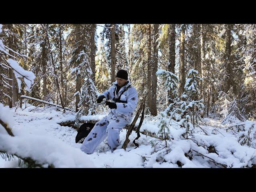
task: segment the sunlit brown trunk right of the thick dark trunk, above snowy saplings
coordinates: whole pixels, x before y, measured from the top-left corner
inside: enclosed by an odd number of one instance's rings
[[[185,81],[185,26],[182,25],[180,32],[180,96],[182,96],[184,92]],[[184,100],[184,98],[182,100]]]

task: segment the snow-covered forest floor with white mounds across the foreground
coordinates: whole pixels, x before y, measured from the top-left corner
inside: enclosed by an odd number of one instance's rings
[[[218,167],[220,164],[228,167],[250,167],[256,164],[256,149],[240,145],[234,134],[226,132],[226,126],[220,124],[221,120],[204,118],[200,127],[208,135],[197,129],[192,140],[179,139],[182,130],[174,124],[170,128],[173,140],[168,143],[168,152],[166,148],[159,149],[157,145],[152,147],[152,143],[158,142],[158,139],[143,134],[136,141],[140,145],[139,148],[134,149],[132,141],[137,136],[135,132],[130,135],[131,142],[125,151],[121,148],[126,137],[126,130],[123,129],[120,132],[121,145],[113,153],[105,139],[93,154],[88,155],[80,150],[81,144],[75,143],[77,131],[58,124],[64,120],[74,119],[74,113],[62,114],[56,107],[43,111],[43,108],[29,111],[32,108],[34,106],[24,110],[17,108],[15,111],[15,108],[4,107],[4,111],[10,113],[10,120],[13,120],[11,126],[14,137],[9,136],[4,128],[0,127],[0,147],[22,157],[30,156],[46,167],[47,163],[55,167],[70,168],[210,168]],[[98,115],[94,119],[101,119],[103,116]],[[140,130],[157,133],[159,121],[160,116],[146,116]],[[214,146],[217,154],[209,152],[203,146]],[[190,160],[185,153],[192,154],[193,158]],[[201,155],[195,155],[199,153]],[[18,159],[5,161],[0,158],[0,167],[18,167]]]

